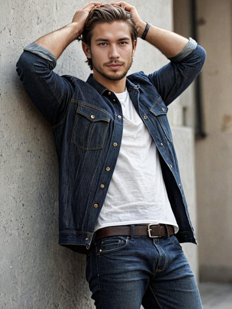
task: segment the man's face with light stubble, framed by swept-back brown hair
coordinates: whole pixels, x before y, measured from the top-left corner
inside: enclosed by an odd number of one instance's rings
[[[124,78],[131,67],[135,47],[136,41],[132,43],[126,22],[97,24],[93,29],[90,48],[93,73],[110,80]]]

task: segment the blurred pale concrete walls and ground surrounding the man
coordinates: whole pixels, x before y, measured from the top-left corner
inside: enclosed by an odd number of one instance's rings
[[[107,1],[103,1],[107,2]],[[109,1],[110,2],[110,1]],[[0,308],[91,309],[85,256],[58,245],[58,164],[52,129],[15,71],[23,48],[70,23],[82,0],[9,0],[0,20]],[[168,117],[199,246],[182,244],[204,309],[232,304],[232,2],[131,0],[144,21],[193,37],[207,52],[195,82]],[[80,43],[55,71],[91,73]],[[168,60],[138,39],[130,73]]]

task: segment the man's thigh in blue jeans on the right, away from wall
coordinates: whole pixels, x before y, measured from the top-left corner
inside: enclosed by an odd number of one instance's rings
[[[150,280],[142,300],[143,307],[202,309],[195,276],[178,239],[173,235],[169,239],[157,240],[155,246],[158,251],[166,253],[167,260],[165,268],[158,269]]]

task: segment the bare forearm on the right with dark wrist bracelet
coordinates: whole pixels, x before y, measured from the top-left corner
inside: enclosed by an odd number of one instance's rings
[[[139,28],[139,37],[142,36],[145,28],[146,23],[143,22]],[[158,48],[167,58],[178,55],[188,43],[187,38],[153,25],[150,26],[145,40]]]

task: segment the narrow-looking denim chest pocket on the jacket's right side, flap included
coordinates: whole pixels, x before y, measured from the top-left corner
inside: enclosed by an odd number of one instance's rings
[[[162,131],[166,135],[169,142],[172,143],[173,142],[172,133],[171,133],[170,125],[168,122],[168,117],[167,117],[168,108],[162,101],[161,97],[157,99],[157,101],[149,109],[149,111],[152,112],[153,115],[156,116],[159,126],[162,128]]]

